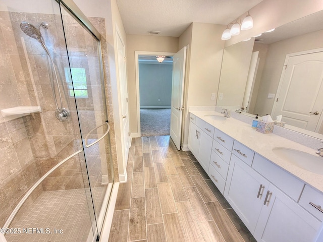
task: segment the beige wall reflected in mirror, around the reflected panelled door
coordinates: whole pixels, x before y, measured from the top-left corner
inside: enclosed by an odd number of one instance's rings
[[[286,54],[323,48],[323,30],[297,36],[268,45],[267,57],[255,105],[256,113],[271,113],[275,99],[266,98],[276,93],[285,63]]]

